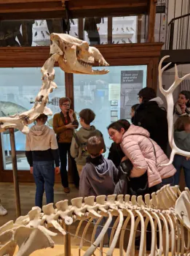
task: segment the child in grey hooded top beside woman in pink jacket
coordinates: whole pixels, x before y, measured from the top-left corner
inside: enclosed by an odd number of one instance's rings
[[[111,160],[103,157],[103,138],[93,136],[87,140],[87,163],[82,168],[79,196],[114,194],[118,170]]]

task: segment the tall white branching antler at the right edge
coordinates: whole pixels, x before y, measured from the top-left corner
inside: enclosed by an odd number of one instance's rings
[[[159,89],[162,92],[163,95],[165,95],[166,101],[167,101],[167,123],[168,123],[168,139],[170,143],[170,147],[172,148],[172,152],[170,154],[170,161],[166,165],[170,165],[173,163],[173,158],[175,154],[180,154],[184,157],[190,157],[190,152],[186,152],[181,150],[175,145],[175,141],[173,139],[173,108],[174,108],[174,102],[173,102],[173,91],[175,88],[186,78],[190,76],[190,73],[187,75],[184,75],[183,78],[178,77],[178,67],[175,64],[175,80],[170,86],[168,90],[163,89],[162,87],[162,73],[165,71],[165,69],[170,66],[171,62],[168,63],[165,67],[162,67],[162,63],[165,59],[167,59],[170,56],[165,56],[161,59],[159,62]]]

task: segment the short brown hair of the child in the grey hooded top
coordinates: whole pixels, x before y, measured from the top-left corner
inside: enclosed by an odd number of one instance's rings
[[[93,136],[87,140],[87,151],[93,157],[98,157],[103,148],[104,142],[102,137]]]

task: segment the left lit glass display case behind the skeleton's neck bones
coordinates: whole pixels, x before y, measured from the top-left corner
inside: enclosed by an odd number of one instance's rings
[[[41,87],[41,72],[39,67],[1,68],[0,116],[12,116],[32,108],[33,101]],[[58,89],[50,94],[48,107],[53,114],[60,112],[59,99],[65,97],[65,73],[55,67],[55,83]],[[33,124],[30,124],[31,127]],[[52,128],[52,116],[47,125]],[[12,170],[9,130],[1,133],[4,170]],[[25,135],[15,129],[15,146],[17,151],[18,170],[29,170],[25,158]]]

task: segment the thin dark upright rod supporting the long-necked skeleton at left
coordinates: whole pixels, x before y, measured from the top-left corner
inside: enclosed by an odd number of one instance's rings
[[[19,194],[19,185],[17,178],[17,156],[15,148],[15,132],[13,128],[9,128],[10,135],[10,145],[11,145],[11,157],[12,157],[12,172],[13,172],[13,181],[15,189],[15,203],[16,203],[16,216],[17,218],[21,215],[20,209],[20,194]]]

